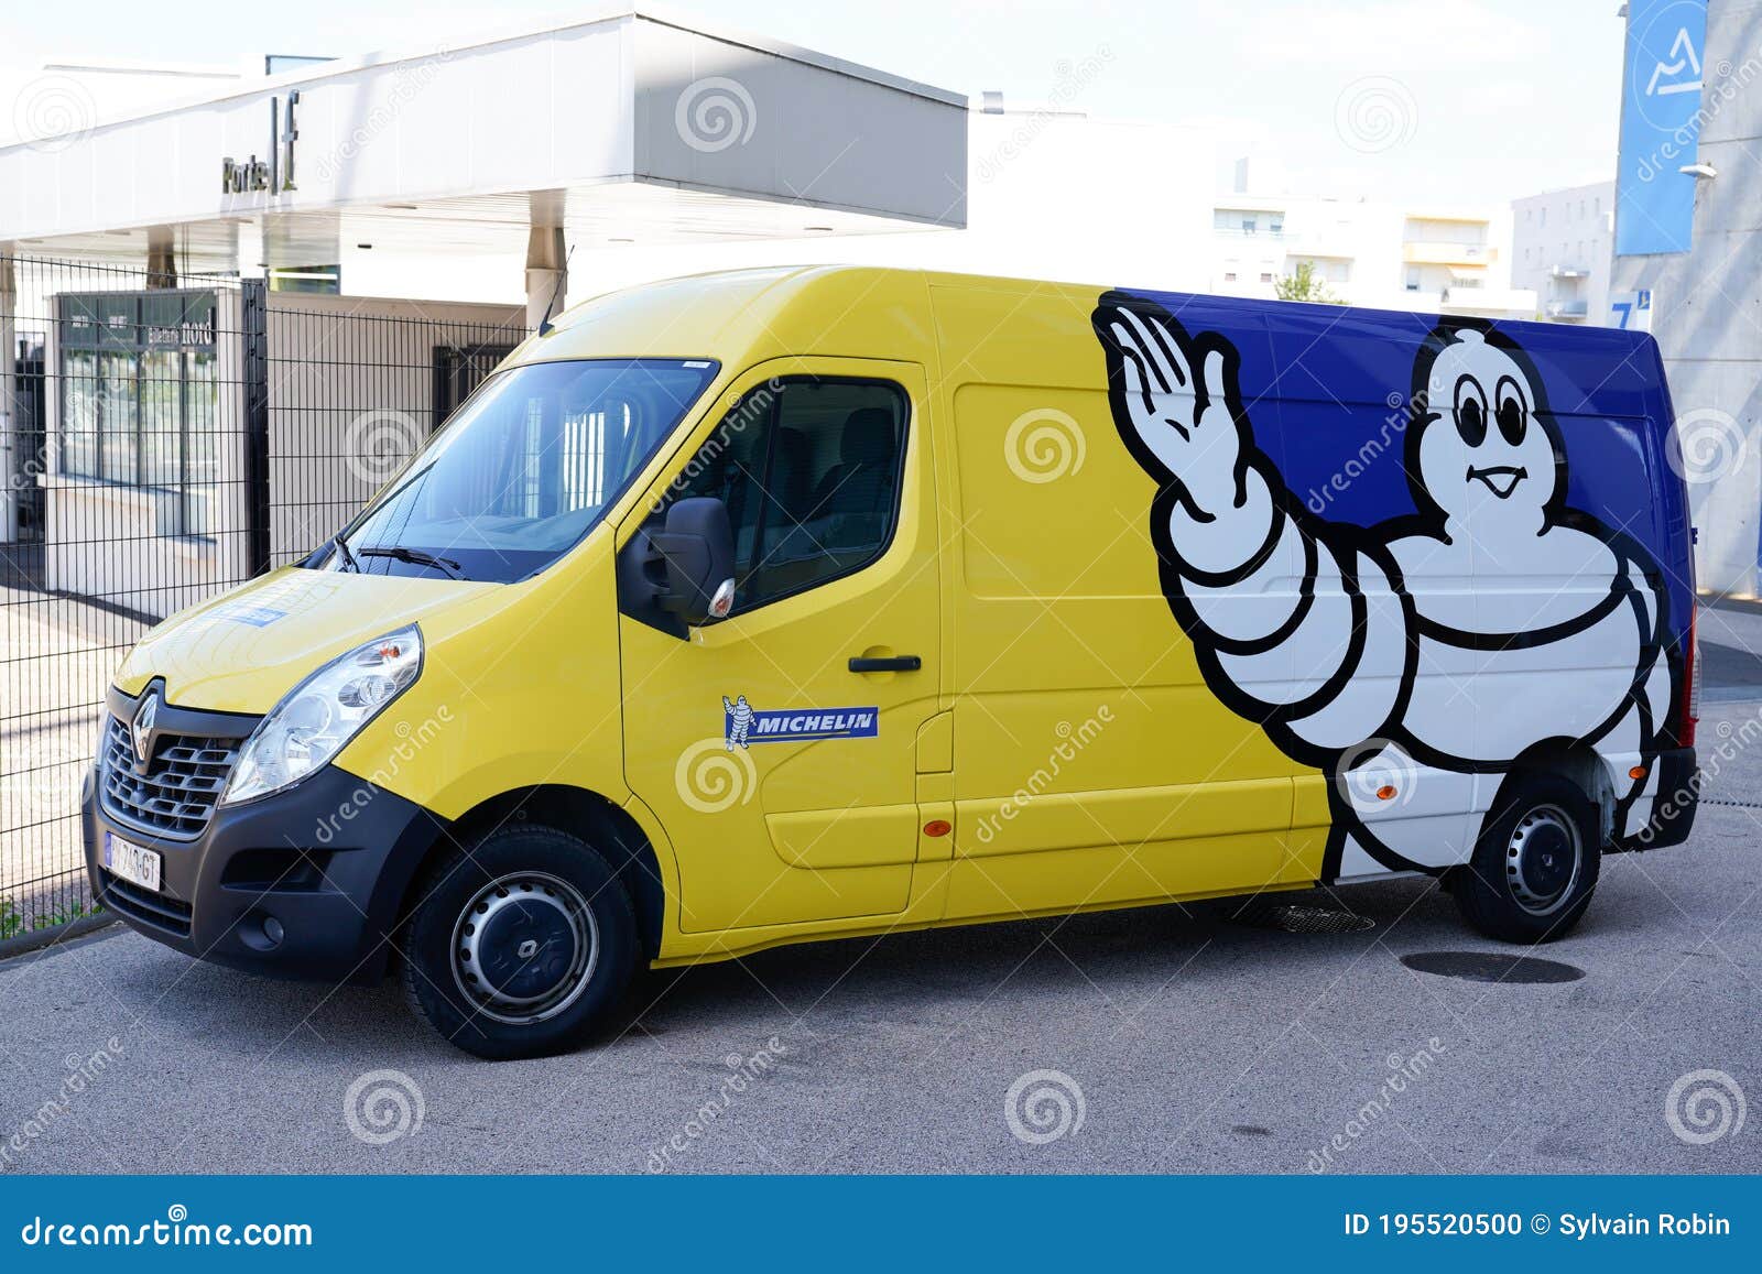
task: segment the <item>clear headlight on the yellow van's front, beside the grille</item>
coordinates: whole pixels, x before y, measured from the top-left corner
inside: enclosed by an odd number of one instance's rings
[[[331,659],[289,693],[245,740],[222,805],[255,800],[326,765],[416,680],[423,634],[388,633]]]

